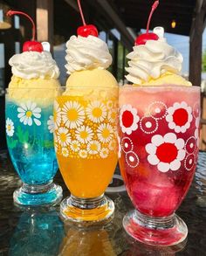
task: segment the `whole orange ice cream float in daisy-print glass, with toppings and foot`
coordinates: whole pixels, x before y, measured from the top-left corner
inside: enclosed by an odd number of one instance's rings
[[[117,163],[118,86],[106,71],[112,62],[106,43],[93,36],[93,25],[85,27],[92,34],[78,30],[78,36],[66,43],[65,67],[70,76],[55,101],[55,147],[59,169],[72,194],[61,204],[62,214],[99,221],[113,212],[113,206],[107,207],[113,202],[103,194]]]

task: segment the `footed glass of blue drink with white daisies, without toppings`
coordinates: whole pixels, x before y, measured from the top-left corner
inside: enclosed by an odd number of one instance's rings
[[[52,183],[58,170],[52,112],[51,101],[14,100],[7,93],[7,145],[11,162],[23,181],[14,192],[17,204],[50,204],[62,195],[61,188]]]

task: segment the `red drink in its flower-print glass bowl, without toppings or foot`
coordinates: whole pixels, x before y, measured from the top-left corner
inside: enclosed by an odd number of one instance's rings
[[[134,207],[148,218],[172,216],[189,190],[199,102],[195,86],[120,89],[120,170]]]

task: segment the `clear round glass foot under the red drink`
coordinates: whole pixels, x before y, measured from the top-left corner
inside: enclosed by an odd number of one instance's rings
[[[126,232],[134,239],[152,246],[174,246],[187,238],[188,228],[182,218],[151,218],[139,211],[129,211],[123,218]]]

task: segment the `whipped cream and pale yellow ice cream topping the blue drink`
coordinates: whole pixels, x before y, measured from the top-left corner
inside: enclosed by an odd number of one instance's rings
[[[59,70],[50,52],[22,52],[10,58],[13,76],[9,84],[10,98],[51,101],[54,90],[58,93]],[[37,88],[37,90],[34,90]],[[44,101],[45,102],[45,101]]]

